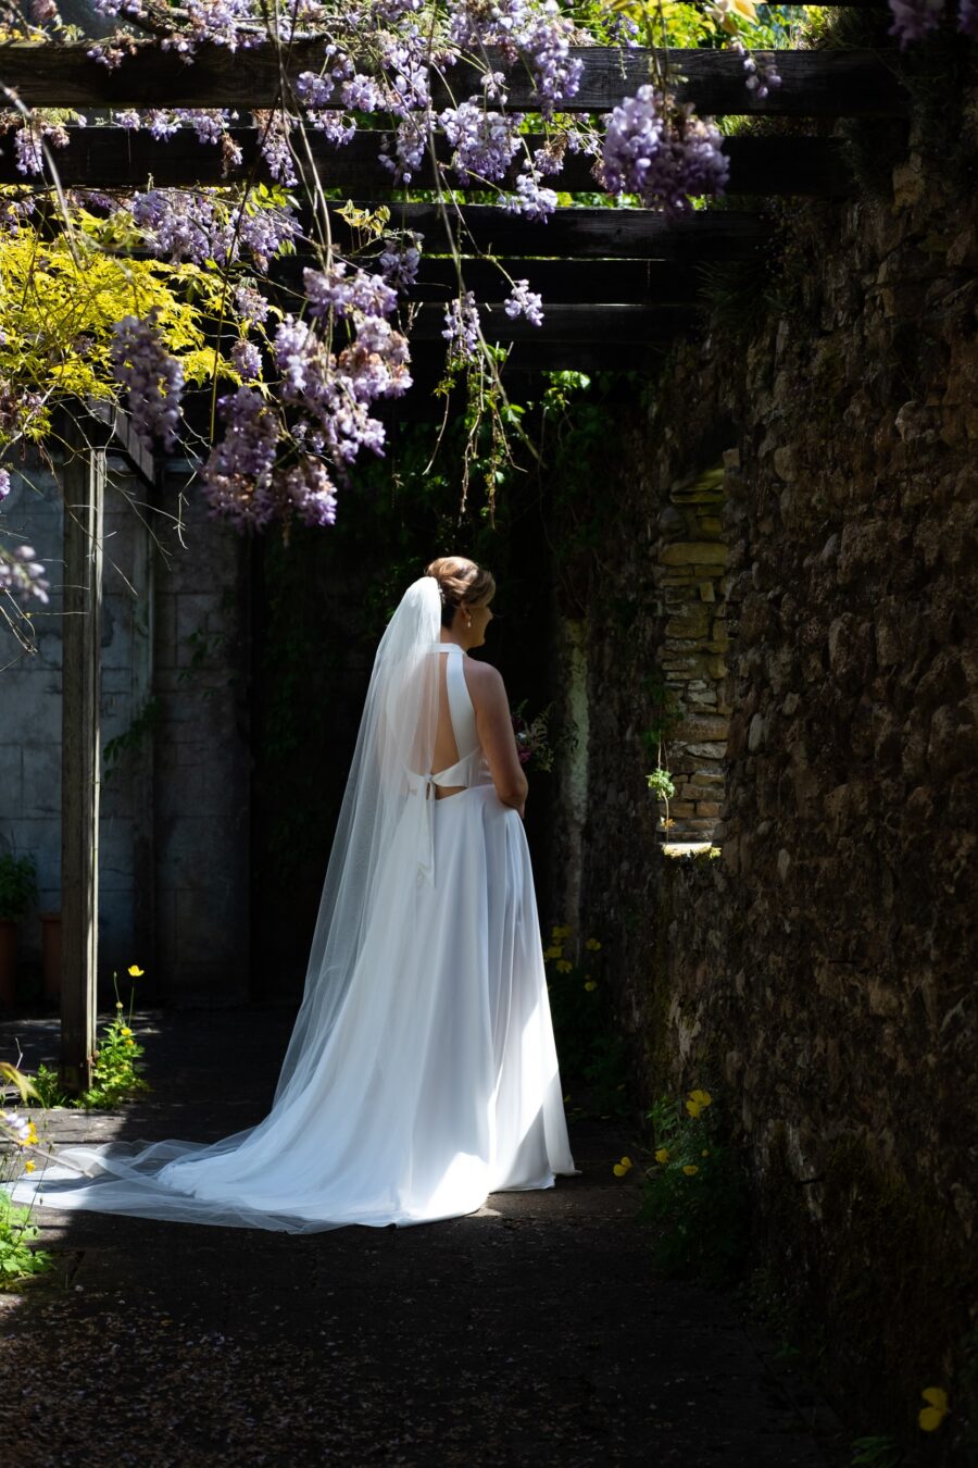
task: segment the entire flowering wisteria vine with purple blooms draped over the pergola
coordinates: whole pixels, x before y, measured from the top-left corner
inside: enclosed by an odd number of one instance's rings
[[[890,9],[900,47],[950,18],[944,0],[890,0]],[[311,176],[311,135],[340,148],[364,119],[380,120],[378,161],[391,185],[418,188],[424,170],[434,170],[435,197],[456,236],[463,229],[456,186],[488,189],[507,213],[545,226],[559,207],[554,185],[567,153],[592,160],[595,188],[667,217],[689,210],[695,197],[721,194],[727,184],[718,129],[673,100],[667,76],[651,76],[601,119],[566,110],[581,87],[573,48],[595,40],[652,44],[660,0],[609,0],[598,37],[559,0],[296,0],[274,12],[264,0],[185,0],[169,7],[157,0],[95,0],[95,10],[114,29],[92,40],[88,54],[109,69],[125,66],[147,44],[192,65],[205,46],[233,51],[270,40],[282,46],[323,40],[318,70],[302,72],[282,106],[251,113],[271,185],[252,179],[210,189],[89,191],[67,201],[69,208],[78,204],[103,220],[101,235],[85,225],[89,244],[120,257],[166,261],[189,272],[188,280],[216,273],[223,282],[211,330],[214,393],[207,442],[195,446],[185,413],[192,368],[199,379],[199,342],[191,342],[186,332],[177,338],[158,305],[133,301],[132,310],[97,323],[70,349],[92,360],[101,354],[111,390],[144,442],[164,452],[180,442],[198,452],[199,483],[213,512],[242,528],[276,520],[287,524],[293,515],[331,524],[361,452],[384,452],[377,405],[400,396],[412,380],[399,313],[418,279],[424,239],[391,228],[378,213],[358,219],[358,248],[342,254],[323,181],[314,170]],[[773,53],[754,54],[745,40],[757,21],[754,0],[705,0],[701,12],[714,44],[742,57],[746,92],[764,98],[780,87]],[[21,0],[0,0],[0,13],[7,38],[56,43],[63,31],[56,0],[29,0],[26,10]],[[957,0],[955,23],[978,37],[978,0]],[[531,142],[526,115],[510,110],[500,56],[529,78],[543,141]],[[441,82],[462,62],[479,73],[475,92],[437,101]],[[233,134],[240,117],[230,109],[123,109],[110,120],[158,141],[192,132],[202,147],[220,151],[224,176],[240,169]],[[0,116],[18,172],[28,182],[41,181],[37,198],[43,197],[45,156],[67,145],[69,126],[85,123],[78,112],[29,113],[21,104]],[[0,200],[0,229],[12,238],[32,228],[37,198],[7,191]],[[298,248],[317,258],[304,272],[302,288],[262,283],[273,261]],[[528,279],[509,280],[500,310],[510,321],[544,321],[544,302]],[[441,336],[450,374],[487,364],[497,371],[462,270],[444,308]],[[15,390],[6,366],[0,342],[0,449],[31,436],[44,399]],[[9,486],[4,476],[0,470],[0,501]],[[32,555],[25,549],[0,556],[0,590],[45,595]]]

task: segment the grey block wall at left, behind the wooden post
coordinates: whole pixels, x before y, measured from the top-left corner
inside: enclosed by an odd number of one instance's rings
[[[183,474],[183,480],[186,474]],[[101,661],[100,992],[130,963],[144,998],[232,1001],[249,978],[248,556],[182,502],[179,465],[158,496],[110,455]],[[174,527],[179,517],[180,528]],[[32,606],[37,652],[3,630],[0,850],[31,853],[38,910],[60,907],[62,495],[41,467],[13,476],[3,528],[47,567]],[[113,757],[114,744],[114,757]],[[41,925],[21,931],[21,992],[40,994]]]

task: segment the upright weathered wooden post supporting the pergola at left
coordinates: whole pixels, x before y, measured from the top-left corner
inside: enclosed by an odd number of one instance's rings
[[[104,437],[89,418],[65,433],[60,1082],[72,1095],[91,1085],[95,1051]]]

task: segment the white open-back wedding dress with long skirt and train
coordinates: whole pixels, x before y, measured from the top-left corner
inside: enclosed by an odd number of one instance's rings
[[[18,1201],[301,1233],[456,1217],[575,1171],[523,824],[496,794],[463,649],[428,653],[457,759],[405,771],[356,972],[268,1116],[217,1144],[63,1148]]]

